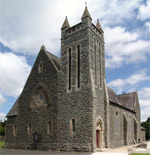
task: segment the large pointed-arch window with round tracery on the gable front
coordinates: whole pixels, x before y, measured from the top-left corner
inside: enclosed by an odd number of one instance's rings
[[[36,87],[31,100],[31,107],[37,107],[48,104],[48,94],[46,89],[39,85]]]

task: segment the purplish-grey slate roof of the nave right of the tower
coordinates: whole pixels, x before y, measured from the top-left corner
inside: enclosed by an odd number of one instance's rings
[[[116,93],[111,88],[108,88],[107,90],[109,101],[134,111],[136,92],[116,95]]]

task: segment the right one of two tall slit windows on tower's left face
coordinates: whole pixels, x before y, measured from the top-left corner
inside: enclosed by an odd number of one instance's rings
[[[78,76],[77,76],[77,81],[78,81],[78,83],[77,83],[77,86],[78,86],[78,88],[80,88],[80,50],[81,50],[81,48],[80,48],[80,45],[78,45],[77,46],[77,69],[78,69],[78,71],[77,71],[77,74],[78,74]]]

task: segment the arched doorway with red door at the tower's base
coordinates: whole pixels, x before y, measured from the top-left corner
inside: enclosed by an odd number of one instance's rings
[[[103,127],[101,120],[98,120],[96,126],[96,146],[97,148],[103,148]]]

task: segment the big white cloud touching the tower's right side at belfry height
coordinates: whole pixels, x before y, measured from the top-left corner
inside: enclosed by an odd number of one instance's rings
[[[150,41],[140,39],[137,32],[123,27],[106,27],[106,68],[119,68],[124,63],[142,63],[150,54]]]

